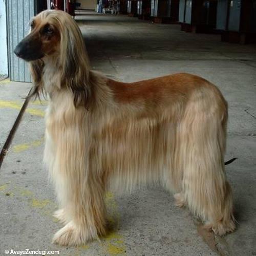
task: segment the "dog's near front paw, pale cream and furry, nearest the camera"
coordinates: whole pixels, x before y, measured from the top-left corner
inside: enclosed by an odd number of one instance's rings
[[[72,222],[69,222],[54,234],[52,242],[63,246],[78,246],[87,241],[84,239],[83,234],[75,229]]]

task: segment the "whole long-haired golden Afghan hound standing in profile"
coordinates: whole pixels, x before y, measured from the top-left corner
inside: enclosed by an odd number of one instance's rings
[[[63,11],[32,18],[14,52],[30,63],[29,96],[49,95],[44,162],[65,224],[54,243],[104,236],[105,192],[155,183],[207,229],[234,230],[227,103],[214,84],[186,73],[125,83],[92,71],[82,34]]]

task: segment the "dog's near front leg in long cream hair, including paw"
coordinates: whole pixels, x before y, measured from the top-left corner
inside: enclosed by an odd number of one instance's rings
[[[58,138],[53,178],[66,223],[53,237],[59,245],[81,245],[106,230],[101,172],[89,163],[83,139],[69,134]]]

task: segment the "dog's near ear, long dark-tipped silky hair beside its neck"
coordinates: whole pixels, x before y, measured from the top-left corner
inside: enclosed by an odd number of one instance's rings
[[[82,34],[73,19],[60,29],[61,84],[74,94],[74,105],[87,105],[91,96],[89,87],[89,58]]]

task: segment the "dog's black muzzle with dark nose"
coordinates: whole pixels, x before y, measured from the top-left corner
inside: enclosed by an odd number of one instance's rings
[[[41,51],[41,41],[31,35],[26,36],[18,43],[14,53],[26,61],[32,61],[44,57]]]

